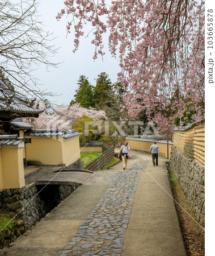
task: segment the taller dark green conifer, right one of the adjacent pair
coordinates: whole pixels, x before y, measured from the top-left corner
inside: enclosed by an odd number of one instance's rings
[[[94,102],[96,108],[100,109],[103,104],[110,105],[114,95],[113,85],[108,79],[106,72],[100,73],[96,79],[96,86],[94,88]]]

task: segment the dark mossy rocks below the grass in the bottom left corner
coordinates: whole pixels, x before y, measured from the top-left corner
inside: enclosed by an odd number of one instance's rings
[[[26,232],[26,225],[23,220],[15,220],[14,227],[0,233],[0,249],[7,247],[14,242],[21,234]]]

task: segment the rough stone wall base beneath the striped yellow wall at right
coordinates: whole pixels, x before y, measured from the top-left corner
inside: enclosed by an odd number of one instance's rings
[[[205,220],[205,170],[195,160],[186,158],[176,147],[172,147],[171,170],[179,180],[188,202],[196,215],[196,221],[204,226]]]

